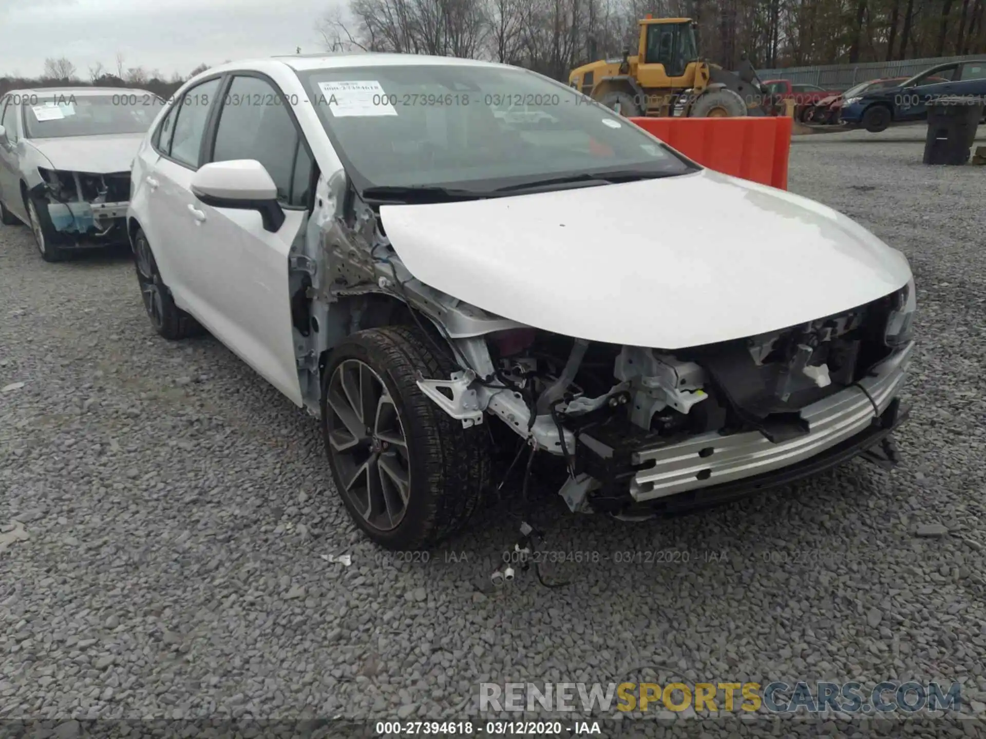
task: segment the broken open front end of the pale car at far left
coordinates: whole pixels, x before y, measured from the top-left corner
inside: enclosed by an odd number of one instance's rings
[[[130,197],[130,172],[37,171],[42,181],[32,194],[47,201],[55,231],[97,239],[121,235]]]

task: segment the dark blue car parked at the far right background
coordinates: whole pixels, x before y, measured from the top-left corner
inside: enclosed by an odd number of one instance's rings
[[[939,64],[898,87],[847,98],[840,119],[845,126],[879,133],[891,123],[926,120],[929,103],[952,96],[986,101],[986,59]]]

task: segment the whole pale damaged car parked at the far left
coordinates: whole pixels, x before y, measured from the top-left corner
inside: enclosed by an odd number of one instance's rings
[[[146,90],[43,88],[0,98],[0,222],[49,261],[126,242],[130,167],[164,101]]]

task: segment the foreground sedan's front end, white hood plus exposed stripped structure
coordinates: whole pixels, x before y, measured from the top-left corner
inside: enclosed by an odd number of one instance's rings
[[[706,170],[459,203],[357,199],[347,221],[332,182],[291,262],[310,408],[331,337],[418,322],[459,367],[419,376],[420,390],[465,427],[492,420],[494,436],[562,460],[576,511],[633,517],[860,454],[894,461],[913,278],[831,209]],[[719,217],[656,228],[638,208],[689,203]]]

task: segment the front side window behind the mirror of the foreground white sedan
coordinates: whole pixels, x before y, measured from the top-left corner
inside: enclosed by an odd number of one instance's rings
[[[234,77],[223,100],[211,161],[237,159],[263,165],[281,203],[306,204],[311,157],[277,90],[258,77]]]

